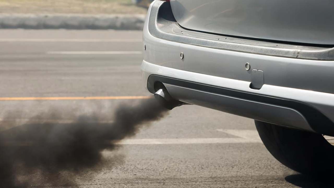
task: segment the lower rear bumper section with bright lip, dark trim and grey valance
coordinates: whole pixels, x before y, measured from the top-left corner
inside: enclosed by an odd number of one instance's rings
[[[334,94],[271,85],[253,91],[249,88],[249,82],[172,69],[146,61],[143,61],[141,69],[143,80],[151,93],[156,92],[154,85],[160,82],[174,99],[182,102],[334,135],[334,117],[331,113]],[[325,100],[329,103],[323,103]]]

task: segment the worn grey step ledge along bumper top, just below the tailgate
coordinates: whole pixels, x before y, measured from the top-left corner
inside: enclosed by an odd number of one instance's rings
[[[169,2],[155,1],[147,16],[149,32],[158,38],[208,48],[298,59],[334,60],[333,47],[259,41],[191,31],[175,20]]]

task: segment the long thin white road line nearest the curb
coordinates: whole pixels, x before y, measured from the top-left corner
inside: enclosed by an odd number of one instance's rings
[[[0,38],[0,42],[142,42],[140,39]]]

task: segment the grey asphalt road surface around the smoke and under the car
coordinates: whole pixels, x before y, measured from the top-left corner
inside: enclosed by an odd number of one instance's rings
[[[56,109],[64,121],[86,113],[112,121],[114,108],[137,100],[27,97],[150,95],[141,80],[141,37],[140,31],[0,30],[0,97],[7,97],[0,98],[1,118],[20,125]],[[127,142],[103,152],[111,160],[99,171],[58,187],[320,185],[277,162],[259,140],[252,119],[203,107],[175,108]]]

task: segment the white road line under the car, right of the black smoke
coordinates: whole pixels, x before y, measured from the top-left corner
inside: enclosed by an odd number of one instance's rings
[[[115,142],[118,145],[166,145],[166,144],[233,144],[258,143],[245,138],[159,138],[159,139],[124,139]]]

